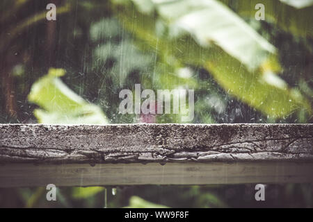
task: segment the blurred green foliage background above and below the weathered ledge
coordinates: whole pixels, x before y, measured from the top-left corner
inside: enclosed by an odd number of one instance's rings
[[[56,22],[45,19],[48,3]],[[135,83],[195,89],[193,123],[313,122],[312,0],[3,0],[0,24],[0,123],[142,122],[118,114],[120,90]],[[172,122],[179,115],[157,115]],[[258,206],[250,194],[236,201],[245,186],[127,187],[108,206]],[[220,195],[229,189],[233,199]],[[285,201],[268,206],[312,207],[305,185],[278,190]],[[104,207],[102,187],[58,191],[57,207]],[[6,192],[0,206],[51,205],[42,188],[10,189],[4,203]]]

